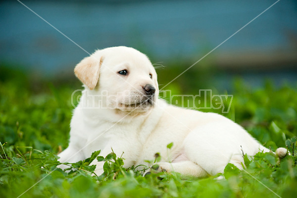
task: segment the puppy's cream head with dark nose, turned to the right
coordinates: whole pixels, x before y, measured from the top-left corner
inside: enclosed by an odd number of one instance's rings
[[[101,96],[101,106],[114,111],[145,113],[158,97],[154,67],[145,54],[133,48],[98,50],[74,72],[90,93]]]

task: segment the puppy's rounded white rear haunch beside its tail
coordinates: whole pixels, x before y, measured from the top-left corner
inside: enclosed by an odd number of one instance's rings
[[[224,124],[201,126],[190,132],[184,140],[184,152],[189,160],[210,175],[224,173],[228,163],[243,169],[241,145],[248,155],[258,148],[258,143],[245,134],[243,129],[226,129],[221,126]]]

